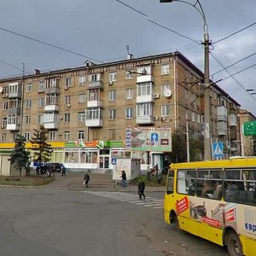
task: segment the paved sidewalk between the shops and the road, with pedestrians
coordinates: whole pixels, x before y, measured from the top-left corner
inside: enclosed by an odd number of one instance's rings
[[[67,177],[61,177],[61,173],[55,173],[55,181],[48,183],[41,188],[49,189],[67,189],[67,190],[93,190],[93,191],[122,191],[122,192],[137,192],[137,186],[128,185],[122,188],[115,185],[112,179],[112,174],[108,173],[93,173],[90,172],[89,188],[84,186],[84,172],[67,172]],[[164,192],[164,187],[148,187],[146,191]]]

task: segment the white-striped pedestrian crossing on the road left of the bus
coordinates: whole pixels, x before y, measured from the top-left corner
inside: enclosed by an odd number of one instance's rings
[[[136,204],[143,207],[153,207],[154,209],[160,209],[164,207],[164,200],[154,197],[146,197],[145,200],[139,200],[138,195],[124,192],[105,192],[105,191],[82,191],[83,193],[90,195],[98,195],[114,199],[116,201],[124,201],[130,204]]]

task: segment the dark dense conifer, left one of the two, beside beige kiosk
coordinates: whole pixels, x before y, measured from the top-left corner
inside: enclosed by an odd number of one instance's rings
[[[18,135],[15,138],[15,148],[10,155],[10,162],[15,165],[15,168],[20,171],[26,169],[29,165],[29,152],[25,148],[26,137]]]

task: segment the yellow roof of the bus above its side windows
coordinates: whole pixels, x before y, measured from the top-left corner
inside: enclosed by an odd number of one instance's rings
[[[256,158],[241,157],[229,160],[208,160],[198,162],[171,164],[172,169],[198,169],[198,168],[226,168],[226,167],[255,167]]]

